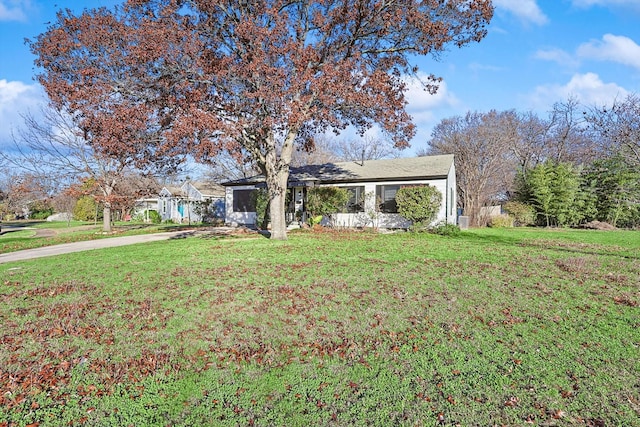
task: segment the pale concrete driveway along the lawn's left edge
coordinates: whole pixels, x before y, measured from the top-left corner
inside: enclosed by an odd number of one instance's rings
[[[84,242],[63,243],[61,245],[45,246],[42,248],[25,249],[23,251],[0,254],[0,264],[13,261],[24,261],[71,252],[90,251],[93,249],[112,248],[115,246],[133,245],[136,243],[155,242],[158,240],[180,239],[194,235],[193,231],[171,231],[156,234],[141,234],[139,236],[107,237],[104,239],[87,240]]]

